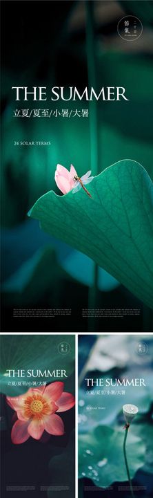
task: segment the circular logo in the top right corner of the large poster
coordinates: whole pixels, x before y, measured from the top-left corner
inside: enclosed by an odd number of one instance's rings
[[[125,16],[117,25],[119,36],[126,42],[134,42],[143,33],[143,25],[138,17]]]

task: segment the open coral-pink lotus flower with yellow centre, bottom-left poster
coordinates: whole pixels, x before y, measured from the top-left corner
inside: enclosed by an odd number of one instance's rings
[[[30,388],[17,398],[7,396],[7,403],[17,412],[18,418],[12,427],[12,443],[24,443],[30,436],[40,439],[44,430],[54,436],[63,435],[63,421],[56,413],[67,411],[75,403],[74,396],[63,392],[63,387],[63,382],[52,382]]]

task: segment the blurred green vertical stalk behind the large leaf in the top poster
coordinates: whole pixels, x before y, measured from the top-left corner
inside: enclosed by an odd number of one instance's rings
[[[86,8],[86,49],[87,49],[87,63],[88,63],[88,85],[96,89],[96,58],[95,58],[95,44],[94,44],[94,1],[85,1]],[[96,176],[99,174],[98,170],[98,117],[97,117],[97,103],[95,100],[89,102],[89,124],[90,124],[90,157],[91,157],[91,170],[92,174]],[[93,212],[94,216],[94,212]],[[96,308],[97,302],[97,287],[98,280],[98,266],[94,264],[94,282],[92,287],[89,287],[88,293],[88,308]],[[96,319],[95,317],[88,318],[88,331],[96,332]]]

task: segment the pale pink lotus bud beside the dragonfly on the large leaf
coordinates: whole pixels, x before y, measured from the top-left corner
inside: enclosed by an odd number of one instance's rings
[[[61,190],[63,194],[68,194],[74,187],[74,176],[77,176],[74,166],[70,166],[69,172],[64,166],[57,165],[54,179],[57,183],[57,187],[59,187],[59,190]]]

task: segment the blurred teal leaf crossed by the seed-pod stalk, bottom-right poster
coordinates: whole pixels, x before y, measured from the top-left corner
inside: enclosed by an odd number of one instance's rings
[[[96,486],[107,488],[115,481],[127,481],[123,457],[124,432],[99,426],[94,432],[79,436],[79,477],[92,479]],[[126,443],[130,477],[143,465],[145,445],[130,431]]]

